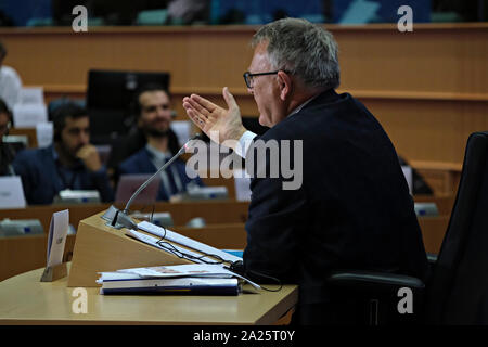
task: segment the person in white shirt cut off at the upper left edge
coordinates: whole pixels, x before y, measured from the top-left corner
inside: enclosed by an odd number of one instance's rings
[[[22,81],[14,68],[3,65],[7,52],[5,46],[0,41],[0,99],[13,110],[21,101]]]

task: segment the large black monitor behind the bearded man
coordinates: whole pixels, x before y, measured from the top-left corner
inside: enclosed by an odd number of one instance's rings
[[[88,72],[87,108],[91,141],[111,143],[132,126],[131,103],[137,90],[157,83],[169,89],[169,73],[99,70]]]

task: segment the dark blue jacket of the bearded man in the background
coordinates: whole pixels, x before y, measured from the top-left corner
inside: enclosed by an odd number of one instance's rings
[[[196,177],[195,179],[191,179],[187,176],[185,169],[184,169],[184,162],[181,159],[175,160],[172,166],[176,166],[178,175],[180,177],[181,183],[183,187],[187,187],[188,183],[191,181],[194,181],[196,184],[203,187],[203,182],[200,179],[200,177]],[[127,174],[154,174],[157,171],[158,168],[154,166],[154,164],[151,162],[151,154],[150,152],[143,147],[136,154],[131,155],[129,158],[124,160],[120,166],[118,167],[118,171],[120,175],[127,175]],[[166,170],[168,175],[171,172],[171,170]],[[168,193],[166,192],[163,184],[159,185],[159,193],[157,194],[157,200],[167,201],[169,200]]]

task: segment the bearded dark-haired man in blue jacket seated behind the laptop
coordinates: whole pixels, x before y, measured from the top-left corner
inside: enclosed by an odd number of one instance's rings
[[[124,160],[118,169],[120,175],[154,174],[174,156],[169,147],[169,125],[171,107],[168,92],[157,86],[147,87],[139,93],[140,115],[138,125],[145,134],[147,144]],[[177,159],[160,174],[162,184],[157,200],[168,201],[172,195],[187,191],[187,185],[203,185],[201,179],[190,179],[184,162]]]

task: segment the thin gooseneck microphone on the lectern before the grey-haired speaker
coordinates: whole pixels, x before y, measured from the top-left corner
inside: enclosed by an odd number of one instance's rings
[[[129,211],[130,205],[134,201],[136,197],[169,165],[171,165],[177,158],[179,158],[183,153],[187,153],[189,150],[193,149],[196,144],[196,140],[201,140],[202,137],[200,133],[192,137],[175,154],[165,165],[163,165],[153,176],[151,176],[138,190],[130,196],[129,201],[126,204],[126,207],[123,210],[117,209],[114,205],[112,205],[108,210],[102,216],[103,219],[108,221],[108,224],[115,229],[127,228],[127,229],[137,229],[137,224],[132,221],[132,219],[127,215]]]

